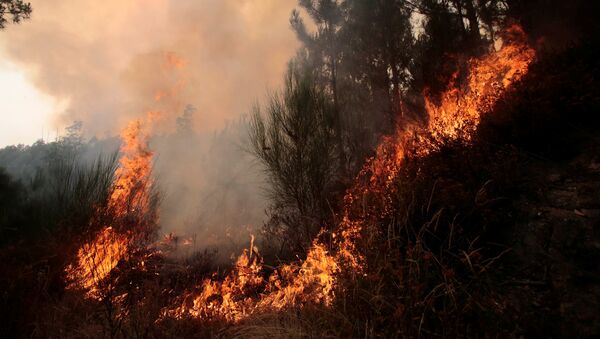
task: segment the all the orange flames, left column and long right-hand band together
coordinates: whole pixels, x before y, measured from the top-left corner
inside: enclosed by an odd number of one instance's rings
[[[163,309],[163,317],[235,322],[252,314],[307,303],[331,305],[335,300],[336,279],[342,271],[364,274],[366,260],[359,249],[364,227],[394,211],[391,198],[394,182],[407,154],[428,154],[443,140],[471,141],[481,114],[527,72],[535,52],[526,44],[523,31],[511,27],[503,38],[501,50],[468,61],[465,81],[459,81],[459,73],[455,74],[439,103],[427,91],[424,93],[429,118],[425,126],[408,124],[383,138],[375,156],[366,162],[344,197],[341,222],[331,234],[332,245],[320,240],[326,234],[322,230],[305,260],[282,265],[267,278],[253,238],[231,273],[223,279],[213,276],[203,280],[175,305]],[[184,66],[178,59],[167,63],[177,69]],[[152,152],[147,143],[148,121],[132,122],[121,136],[123,157],[109,206],[122,216],[149,208]],[[78,264],[70,267],[68,273],[80,281],[81,287],[93,290],[119,260],[127,258],[130,243],[114,237],[118,234],[125,234],[125,239],[130,236],[108,227],[79,251]],[[100,259],[96,260],[96,256]]]

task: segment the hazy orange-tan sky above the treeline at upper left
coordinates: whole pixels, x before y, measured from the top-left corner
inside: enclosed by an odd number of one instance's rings
[[[74,120],[116,134],[177,89],[198,129],[220,127],[275,89],[298,43],[296,0],[32,0],[0,32],[0,146],[32,143]],[[181,64],[176,72],[165,60]],[[44,131],[44,132],[42,132]]]

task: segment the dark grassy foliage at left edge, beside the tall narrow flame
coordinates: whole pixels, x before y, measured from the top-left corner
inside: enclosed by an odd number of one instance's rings
[[[110,193],[116,154],[90,165],[75,158],[38,168],[27,184],[0,172],[0,244],[71,233],[84,225]]]

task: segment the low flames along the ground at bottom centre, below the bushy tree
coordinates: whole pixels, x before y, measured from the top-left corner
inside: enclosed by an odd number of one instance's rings
[[[180,306],[165,310],[163,315],[239,321],[261,311],[333,302],[334,277],[339,267],[324,245],[315,241],[301,265],[283,265],[265,281],[261,275],[262,261],[253,242],[254,237],[250,249],[244,250],[234,270],[223,281],[204,280],[198,294],[187,294]]]

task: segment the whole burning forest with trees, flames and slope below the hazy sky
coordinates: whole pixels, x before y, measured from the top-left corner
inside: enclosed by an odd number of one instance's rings
[[[0,336],[599,336],[599,7],[298,0],[220,128],[174,89],[5,146]],[[35,14],[0,0],[0,39]]]

